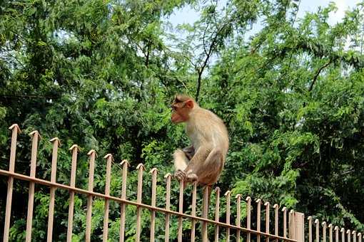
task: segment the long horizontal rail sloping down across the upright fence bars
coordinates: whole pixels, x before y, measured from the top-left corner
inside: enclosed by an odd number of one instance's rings
[[[140,206],[141,208],[149,209],[149,210],[154,209],[154,210],[159,211],[159,212],[164,213],[164,214],[171,214],[171,215],[174,215],[174,216],[182,216],[185,219],[195,219],[197,221],[206,221],[208,223],[212,223],[212,224],[222,226],[222,227],[225,227],[225,228],[240,229],[241,231],[243,231],[245,233],[259,234],[261,236],[269,236],[270,238],[273,238],[273,239],[278,238],[278,239],[281,239],[281,240],[284,240],[284,241],[297,242],[295,239],[291,239],[291,238],[283,238],[281,236],[275,236],[273,234],[267,234],[265,232],[255,231],[255,230],[248,229],[248,228],[238,228],[237,226],[232,225],[232,224],[216,222],[216,221],[211,220],[211,219],[203,219],[201,217],[191,216],[189,214],[181,214],[181,213],[179,213],[177,211],[166,210],[166,209],[162,209],[162,208],[159,208],[159,207],[153,208],[151,205],[148,205],[148,204],[142,204],[142,203],[138,203],[136,201],[129,201],[129,200],[126,200],[126,199],[121,199],[121,198],[115,197],[115,196],[106,196],[105,194],[100,194],[100,193],[97,193],[97,192],[94,192],[94,191],[90,192],[90,191],[87,191],[87,190],[84,190],[84,189],[79,189],[79,188],[72,187],[72,186],[67,186],[67,185],[64,185],[64,184],[58,184],[58,183],[54,183],[54,182],[51,182],[51,181],[46,181],[46,180],[43,180],[43,179],[31,178],[31,177],[23,175],[23,174],[17,174],[17,173],[14,173],[14,172],[9,172],[9,171],[3,170],[3,169],[0,169],[0,174],[8,176],[8,177],[14,177],[15,179],[21,179],[21,180],[24,180],[24,181],[34,181],[37,184],[43,184],[43,185],[46,185],[46,186],[56,186],[56,187],[61,188],[61,189],[66,189],[66,190],[69,190],[69,191],[75,191],[78,194],[92,195],[94,197],[98,197],[98,198],[101,198],[101,199],[109,199],[109,200],[112,200],[112,201],[116,201],[118,203],[125,203],[125,204],[132,205],[132,206]]]

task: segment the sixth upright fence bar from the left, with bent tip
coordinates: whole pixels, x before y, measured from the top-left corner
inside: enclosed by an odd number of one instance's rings
[[[113,160],[112,154],[106,154],[103,159],[106,159],[106,181],[105,181],[105,195],[110,196],[110,182],[111,182],[111,162]],[[105,206],[103,208],[103,236],[102,241],[108,241],[108,208],[110,206],[110,201],[105,200]]]

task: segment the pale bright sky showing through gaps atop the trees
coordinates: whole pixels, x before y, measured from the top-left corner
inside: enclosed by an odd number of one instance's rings
[[[219,4],[226,3],[227,0],[219,0]],[[360,0],[301,0],[300,8],[297,14],[297,18],[304,16],[306,11],[315,12],[319,6],[328,6],[330,2],[334,2],[338,7],[338,11],[335,14],[330,15],[329,23],[335,24],[345,15],[345,11],[348,8],[353,8]],[[169,18],[169,21],[173,26],[177,26],[181,23],[193,23],[198,19],[198,12],[191,8],[191,6],[186,6],[183,9],[175,11]]]

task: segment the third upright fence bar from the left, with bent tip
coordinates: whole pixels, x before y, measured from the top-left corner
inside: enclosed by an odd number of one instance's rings
[[[56,183],[58,147],[61,146],[61,142],[59,141],[59,138],[57,138],[57,137],[51,139],[50,141],[53,142],[52,164],[51,164],[51,182]],[[56,187],[51,186],[51,191],[49,193],[49,213],[48,213],[47,242],[51,242],[52,237],[53,237],[55,195],[56,195]]]

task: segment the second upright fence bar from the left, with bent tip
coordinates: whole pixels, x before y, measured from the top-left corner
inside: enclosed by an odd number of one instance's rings
[[[38,140],[40,139],[39,132],[34,130],[31,135],[31,170],[30,177],[36,177],[36,153],[38,150]],[[28,197],[28,213],[26,215],[26,237],[25,241],[31,241],[31,227],[33,223],[33,209],[34,209],[34,181],[29,182],[29,197]]]

